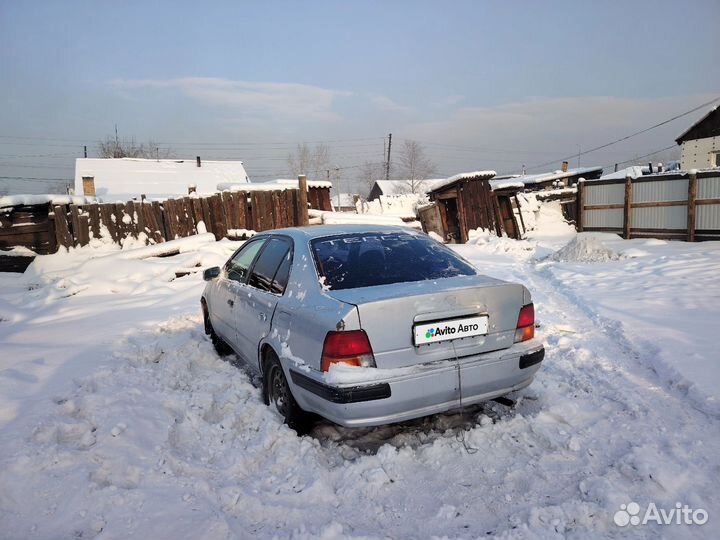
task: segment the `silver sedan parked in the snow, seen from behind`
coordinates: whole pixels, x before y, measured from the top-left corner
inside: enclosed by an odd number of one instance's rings
[[[205,331],[301,430],[400,422],[530,384],[545,351],[530,292],[402,227],[267,231],[205,270]]]

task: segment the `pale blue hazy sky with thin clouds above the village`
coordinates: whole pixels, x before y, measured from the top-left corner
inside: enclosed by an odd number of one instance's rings
[[[115,124],[256,180],[302,141],[350,179],[390,132],[440,176],[532,170],[720,97],[719,21],[717,0],[0,0],[0,176],[71,178]],[[580,163],[671,146],[704,112]]]

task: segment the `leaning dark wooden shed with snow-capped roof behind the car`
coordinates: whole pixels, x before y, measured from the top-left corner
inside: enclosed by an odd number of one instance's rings
[[[433,204],[418,211],[423,229],[450,243],[467,242],[469,231],[477,228],[520,238],[511,200],[514,193],[494,193],[490,186],[494,176],[495,171],[476,171],[433,184],[428,193]]]

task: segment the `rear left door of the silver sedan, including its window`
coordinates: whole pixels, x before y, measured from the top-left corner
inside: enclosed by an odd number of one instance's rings
[[[240,291],[242,311],[236,318],[238,352],[259,368],[258,347],[270,332],[273,313],[285,292],[292,265],[292,240],[270,238],[255,260],[247,285]]]

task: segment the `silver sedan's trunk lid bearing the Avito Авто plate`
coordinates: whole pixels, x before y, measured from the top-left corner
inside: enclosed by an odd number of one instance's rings
[[[357,308],[377,367],[397,368],[512,346],[524,287],[476,275],[327,294]]]

